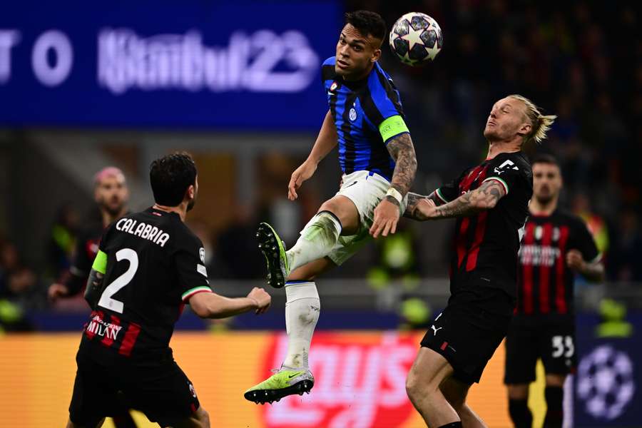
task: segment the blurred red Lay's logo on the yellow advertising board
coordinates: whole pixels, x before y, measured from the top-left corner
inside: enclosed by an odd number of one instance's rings
[[[414,409],[405,380],[419,344],[416,335],[397,332],[336,334],[319,332],[312,341],[312,392],[262,408],[269,428],[400,427]],[[264,372],[280,367],[287,336],[275,335]]]

